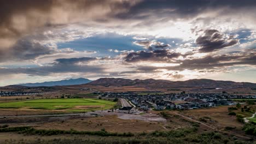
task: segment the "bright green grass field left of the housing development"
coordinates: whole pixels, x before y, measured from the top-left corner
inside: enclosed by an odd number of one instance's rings
[[[100,99],[37,99],[1,103],[2,109],[67,110],[72,112],[111,109],[116,102]]]

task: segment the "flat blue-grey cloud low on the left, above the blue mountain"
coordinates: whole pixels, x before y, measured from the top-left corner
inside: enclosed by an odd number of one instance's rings
[[[52,65],[36,68],[0,68],[0,74],[27,74],[30,76],[46,76],[54,73],[103,73],[104,69],[96,65],[86,65],[96,58],[61,58],[56,59]],[[82,62],[83,65],[79,65]]]

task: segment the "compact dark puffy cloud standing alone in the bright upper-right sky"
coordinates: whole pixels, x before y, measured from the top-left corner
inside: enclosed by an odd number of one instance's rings
[[[238,40],[233,39],[232,35],[225,38],[225,35],[219,33],[216,29],[207,29],[205,35],[196,39],[196,44],[201,46],[199,52],[212,52],[237,43]]]

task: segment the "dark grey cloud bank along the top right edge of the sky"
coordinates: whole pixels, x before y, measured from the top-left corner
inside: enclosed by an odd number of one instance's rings
[[[226,10],[233,11],[233,13],[237,13],[237,10],[240,9],[254,8],[255,4],[256,2],[253,0],[148,0],[134,5],[126,13],[120,13],[117,16],[120,19],[147,19],[153,13],[158,13],[161,16],[168,15],[172,19],[190,19],[207,10],[225,8]]]

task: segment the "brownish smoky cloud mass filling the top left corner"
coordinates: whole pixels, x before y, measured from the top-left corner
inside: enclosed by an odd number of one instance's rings
[[[43,27],[63,27],[85,20],[107,19],[136,2],[119,0],[12,0],[0,1],[1,47],[8,47],[30,32]]]

